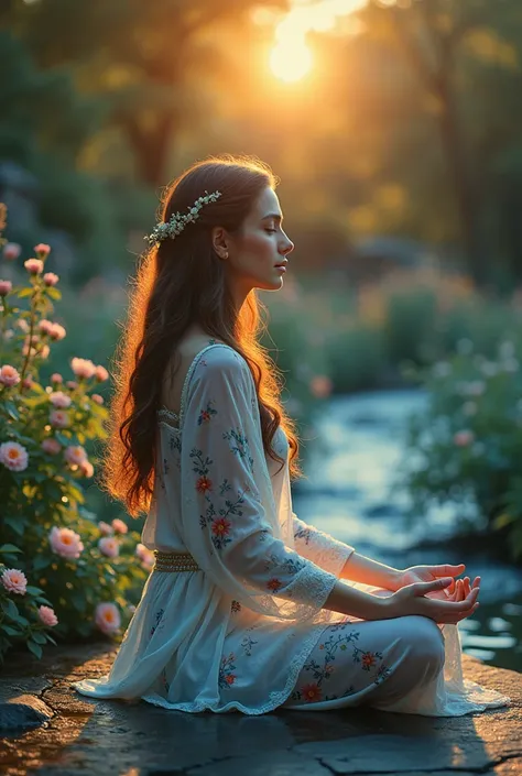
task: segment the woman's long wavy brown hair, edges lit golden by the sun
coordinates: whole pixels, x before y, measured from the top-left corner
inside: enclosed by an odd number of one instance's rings
[[[295,424],[280,401],[282,379],[258,342],[260,331],[267,328],[261,318],[267,308],[253,288],[238,313],[210,239],[215,226],[230,232],[240,230],[264,188],[276,185],[276,177],[260,160],[226,154],[196,162],[164,190],[159,211],[162,221],[174,212],[187,212],[205,192],[219,190],[221,197],[203,207],[197,221],[175,240],[165,239],[144,251],[129,295],[128,316],[113,359],[115,393],[100,487],[122,501],[133,517],[151,505],[163,378],[193,324],[244,358],[255,383],[264,450],[284,464],[271,446],[282,426],[289,439],[291,477],[302,477],[294,460],[300,449]]]

